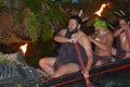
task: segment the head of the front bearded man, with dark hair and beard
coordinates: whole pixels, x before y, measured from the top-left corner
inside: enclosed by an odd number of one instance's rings
[[[70,30],[79,29],[80,26],[81,26],[81,18],[78,15],[74,15],[69,18],[68,28]]]

